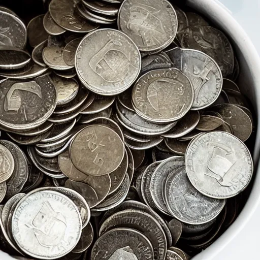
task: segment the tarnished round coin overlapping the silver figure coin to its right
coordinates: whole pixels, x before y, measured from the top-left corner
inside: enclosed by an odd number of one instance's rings
[[[189,79],[175,69],[154,70],[143,75],[132,93],[138,114],[149,121],[176,121],[191,108],[194,99]]]

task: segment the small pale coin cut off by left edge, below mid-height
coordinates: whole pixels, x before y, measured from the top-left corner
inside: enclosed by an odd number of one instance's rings
[[[14,168],[14,156],[9,150],[9,147],[0,143],[0,183],[7,181],[12,176]],[[6,194],[6,183],[3,183],[1,190],[1,194]]]

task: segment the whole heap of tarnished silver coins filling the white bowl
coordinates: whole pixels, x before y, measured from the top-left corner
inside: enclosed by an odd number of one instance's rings
[[[253,174],[229,39],[166,0],[41,4],[26,26],[0,6],[0,249],[190,259]]]

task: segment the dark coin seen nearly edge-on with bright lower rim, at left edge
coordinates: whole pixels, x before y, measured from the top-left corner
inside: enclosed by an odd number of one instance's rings
[[[0,49],[0,69],[21,69],[30,62],[30,54],[14,47],[2,47]]]

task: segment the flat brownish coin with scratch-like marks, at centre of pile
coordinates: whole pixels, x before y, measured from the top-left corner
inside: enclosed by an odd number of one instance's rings
[[[111,152],[113,151],[113,152]],[[101,176],[113,172],[124,156],[120,137],[101,125],[85,127],[70,147],[72,163],[81,172]]]

